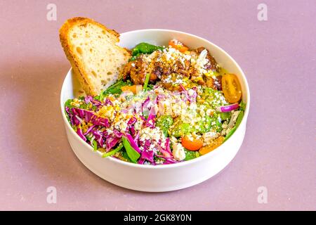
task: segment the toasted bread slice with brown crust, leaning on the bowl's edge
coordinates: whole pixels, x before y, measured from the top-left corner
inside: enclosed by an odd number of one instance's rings
[[[88,95],[96,96],[113,84],[131,57],[117,46],[117,32],[89,18],[67,20],[60,28],[60,42]]]

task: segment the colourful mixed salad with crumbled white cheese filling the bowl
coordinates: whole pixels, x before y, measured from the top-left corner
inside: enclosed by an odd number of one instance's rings
[[[230,138],[244,115],[236,75],[204,47],[140,43],[121,78],[98,96],[65,103],[72,128],[93,150],[143,165],[205,155]]]

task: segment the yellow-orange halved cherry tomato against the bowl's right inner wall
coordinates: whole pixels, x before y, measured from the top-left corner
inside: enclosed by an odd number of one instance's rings
[[[225,74],[222,77],[222,89],[229,103],[237,103],[242,98],[242,86],[236,75]]]

